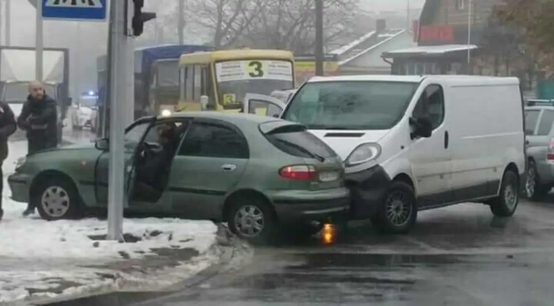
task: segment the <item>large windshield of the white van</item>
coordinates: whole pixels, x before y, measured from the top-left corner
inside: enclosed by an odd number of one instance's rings
[[[283,112],[309,129],[389,129],[402,118],[416,82],[306,83]]]

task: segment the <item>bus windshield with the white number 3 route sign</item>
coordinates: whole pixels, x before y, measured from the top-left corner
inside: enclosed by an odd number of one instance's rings
[[[285,60],[239,60],[216,63],[219,101],[240,103],[246,94],[270,95],[294,86],[293,65]]]

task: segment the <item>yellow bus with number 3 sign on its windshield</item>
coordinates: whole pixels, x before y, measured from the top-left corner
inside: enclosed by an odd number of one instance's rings
[[[217,50],[181,55],[176,111],[240,112],[246,94],[294,87],[294,56],[284,50]]]

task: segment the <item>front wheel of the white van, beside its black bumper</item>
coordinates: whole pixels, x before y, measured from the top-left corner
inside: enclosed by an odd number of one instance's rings
[[[417,201],[412,186],[393,181],[371,221],[373,227],[384,234],[406,234],[416,224],[416,219]]]

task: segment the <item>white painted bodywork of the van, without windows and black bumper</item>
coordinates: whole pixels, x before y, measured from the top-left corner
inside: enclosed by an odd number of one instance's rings
[[[524,117],[516,77],[369,75],[314,77],[308,82],[330,81],[420,83],[406,113],[389,130],[310,130],[345,160],[362,143],[375,142],[381,146],[376,159],[347,167],[347,174],[380,165],[391,179],[397,175],[411,178],[418,198],[445,194],[447,199],[447,194],[463,192],[468,194],[466,200],[477,200],[499,193],[502,175],[509,164],[514,164],[520,175],[525,172]],[[431,137],[411,139],[409,120],[428,85],[443,89],[444,120]],[[363,133],[363,136],[327,137],[329,133]],[[471,188],[491,183],[496,184],[490,189],[494,189],[491,194],[471,196]]]

